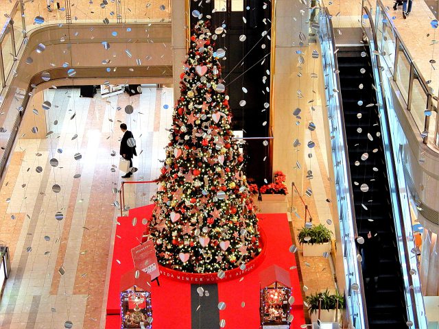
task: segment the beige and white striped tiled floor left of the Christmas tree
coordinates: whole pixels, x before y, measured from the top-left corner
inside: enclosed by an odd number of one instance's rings
[[[119,171],[112,172],[119,159],[119,124],[126,122],[137,140],[134,179],[157,178],[172,89],[143,88],[141,95],[107,99],[80,98],[71,88],[45,94],[54,133],[19,141],[1,188],[0,240],[10,245],[12,276],[0,302],[0,327],[64,328],[70,320],[74,328],[102,328],[110,241],[119,214],[112,193],[121,181]],[[131,115],[124,112],[128,103],[134,106]],[[82,159],[75,160],[77,153]],[[57,167],[51,167],[51,158]],[[76,173],[80,178],[73,178]],[[128,189],[129,206],[149,202],[153,188],[146,185]],[[62,221],[56,212],[62,212]]]

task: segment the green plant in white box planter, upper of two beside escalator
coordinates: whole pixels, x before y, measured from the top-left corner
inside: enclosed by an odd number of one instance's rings
[[[331,234],[331,230],[323,224],[301,228],[297,239],[303,246],[303,256],[322,257],[325,252],[331,252]]]

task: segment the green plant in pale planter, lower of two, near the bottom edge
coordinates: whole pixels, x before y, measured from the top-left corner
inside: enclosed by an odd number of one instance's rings
[[[344,308],[344,297],[335,293],[331,295],[328,289],[324,292],[315,293],[305,298],[311,321],[317,322],[320,301],[320,321],[337,322],[342,319],[342,309]],[[337,321],[336,321],[337,319]]]

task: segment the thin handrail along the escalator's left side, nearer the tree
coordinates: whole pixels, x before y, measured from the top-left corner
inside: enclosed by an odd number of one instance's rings
[[[338,93],[337,94],[337,99],[338,99],[338,103],[339,103],[339,111],[340,111],[340,118],[344,118],[344,110],[343,110],[343,102],[342,102],[342,90],[341,90],[341,85],[340,85],[340,76],[338,74],[338,59],[337,59],[337,51],[335,51],[336,49],[336,45],[335,45],[335,34],[334,34],[334,29],[333,29],[333,24],[332,24],[332,16],[329,13],[328,8],[324,8],[324,14],[326,16],[326,20],[327,20],[327,24],[329,25],[329,31],[331,31],[331,44],[332,44],[332,49],[334,51],[334,53],[332,54],[333,56],[333,63],[334,63],[334,69],[335,69],[335,83],[337,84],[337,90]],[[343,146],[344,146],[344,152],[342,152],[342,156],[345,158],[345,163],[346,163],[346,176],[345,177],[345,182],[347,184],[348,187],[348,194],[349,194],[349,211],[351,212],[351,216],[352,216],[352,222],[353,222],[353,232],[354,232],[354,236],[358,236],[358,231],[357,231],[357,219],[355,217],[355,209],[353,208],[353,204],[354,204],[354,199],[353,199],[353,188],[352,188],[352,182],[349,179],[351,177],[351,168],[349,166],[350,162],[349,162],[349,155],[348,155],[348,147],[347,147],[347,138],[346,138],[346,127],[344,124],[344,120],[341,120],[342,124],[340,126],[340,130],[341,130],[341,134],[343,136]],[[364,297],[364,285],[362,284],[364,282],[363,280],[363,273],[362,273],[362,269],[361,269],[361,263],[357,263],[358,266],[358,276],[359,276],[359,287],[361,289],[361,309],[363,310],[363,315],[364,315],[364,328],[368,329],[369,328],[369,324],[368,324],[368,313],[367,313],[367,309],[366,309],[366,298]]]

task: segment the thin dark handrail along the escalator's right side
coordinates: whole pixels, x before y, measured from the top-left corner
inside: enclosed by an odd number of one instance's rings
[[[378,4],[377,4],[378,5]],[[370,10],[364,6],[363,7],[364,12],[366,12],[368,19],[369,19],[369,23],[370,23],[370,27],[371,27],[371,32],[372,32],[372,37],[373,37],[373,42],[374,42],[374,48],[373,50],[375,50],[375,60],[377,61],[377,72],[378,72],[378,76],[379,76],[379,81],[383,81],[383,75],[381,73],[381,70],[379,69],[381,67],[381,60],[379,58],[379,55],[377,55],[379,53],[379,49],[378,49],[378,42],[377,42],[377,33],[376,33],[376,29],[375,29],[375,23],[372,19],[372,14],[370,13]],[[362,29],[364,30],[364,32],[366,33],[366,30],[364,29],[364,25],[361,26]],[[370,52],[370,56],[374,56],[374,53],[371,51]],[[382,84],[381,86],[377,86],[377,88],[383,88]],[[381,91],[381,95],[383,95],[383,90]],[[382,129],[385,129],[387,131],[388,136],[392,136],[391,132],[390,132],[390,125],[389,125],[389,121],[388,121],[388,104],[387,101],[385,99],[385,97],[382,97],[382,99],[379,99],[379,101],[382,101],[382,106],[383,106],[383,113],[385,114],[385,118],[383,118],[382,122],[384,123],[384,125],[381,125]],[[394,176],[396,176],[396,165],[395,165],[395,159],[394,159],[394,147],[393,147],[393,143],[392,143],[392,138],[389,138],[388,141],[388,145],[389,145],[389,149],[390,149],[390,165],[392,167],[392,171],[390,171],[391,173],[393,173]],[[388,170],[388,173],[390,173]],[[397,180],[396,177],[394,177],[394,182],[395,182],[395,186],[396,186],[396,191],[399,191],[399,182]],[[406,187],[406,186],[405,186]],[[399,223],[401,225],[401,230],[404,234],[404,236],[406,235],[405,232],[405,225],[404,225],[404,220],[403,220],[403,209],[401,207],[401,202],[403,202],[401,200],[401,196],[399,195],[399,193],[395,193],[396,195],[396,199],[397,199],[397,203],[398,203],[398,212],[399,214],[395,214],[396,216],[394,216],[394,220],[399,220]],[[407,199],[406,201],[407,203],[409,202],[409,200]],[[410,214],[409,214],[410,215]],[[405,258],[406,260],[410,259],[410,250],[409,247],[407,245],[407,239],[402,239],[403,242],[403,247],[404,247],[404,254],[405,254]],[[405,264],[401,264],[401,266],[405,266],[405,269],[407,271],[407,273],[410,273],[410,264],[406,261]],[[407,281],[408,281],[408,286],[409,287],[413,287],[413,280],[412,280],[412,276],[410,276],[410,274],[407,276]],[[414,289],[408,289],[410,291],[410,301],[406,300],[407,303],[407,309],[411,306],[412,310],[413,310],[413,314],[414,314],[414,328],[420,328],[419,327],[419,321],[418,321],[418,312],[417,312],[417,305],[416,305],[416,297],[414,295]],[[410,303],[409,303],[410,302]],[[410,305],[411,304],[411,305]],[[410,306],[409,306],[410,305]],[[424,312],[425,314],[425,312]]]

